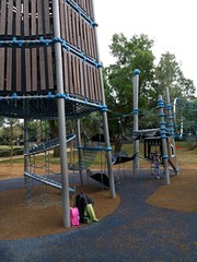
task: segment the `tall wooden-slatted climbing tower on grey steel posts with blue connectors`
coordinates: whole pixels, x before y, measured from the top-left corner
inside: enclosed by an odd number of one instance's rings
[[[61,187],[65,227],[70,227],[67,119],[101,112],[111,196],[116,196],[96,26],[93,0],[0,3],[0,115],[24,119],[24,175]],[[36,119],[58,119],[61,184],[28,169],[28,157],[39,153],[28,143],[28,122]],[[77,139],[80,154],[80,130]],[[51,144],[40,146],[48,151]]]

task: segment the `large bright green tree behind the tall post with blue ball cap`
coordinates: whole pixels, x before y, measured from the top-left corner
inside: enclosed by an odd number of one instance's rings
[[[154,81],[154,56],[152,52],[153,40],[146,35],[132,36],[129,40],[123,35],[115,34],[109,46],[116,63],[104,69],[104,87],[106,104],[112,111],[128,115],[123,118],[124,127],[130,130],[132,111],[132,76],[134,70],[140,69],[139,108],[147,110],[155,103],[152,97],[152,82]],[[151,94],[151,95],[150,95]],[[155,107],[155,105],[154,105]],[[113,112],[108,114],[114,117]],[[116,117],[118,117],[116,115]],[[124,130],[125,131],[125,130]],[[118,118],[109,122],[109,132],[117,136],[119,132]]]

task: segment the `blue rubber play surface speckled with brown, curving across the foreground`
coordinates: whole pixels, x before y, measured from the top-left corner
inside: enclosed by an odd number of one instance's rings
[[[0,241],[0,262],[197,262],[197,214],[146,203],[161,182],[126,177],[117,184],[121,203],[108,217],[68,233]],[[18,187],[20,179],[0,181],[1,191]]]

